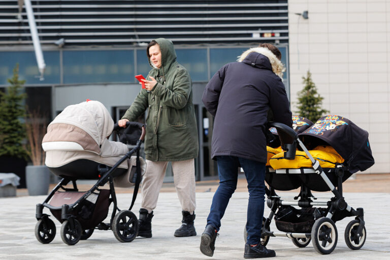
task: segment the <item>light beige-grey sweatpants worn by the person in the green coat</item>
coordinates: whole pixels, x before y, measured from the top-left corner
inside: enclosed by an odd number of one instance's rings
[[[147,209],[150,213],[157,205],[158,193],[161,186],[163,186],[168,161],[146,160],[146,164],[146,172],[141,184],[141,208]],[[171,164],[173,180],[181,208],[193,214],[196,208],[194,159],[172,161]]]

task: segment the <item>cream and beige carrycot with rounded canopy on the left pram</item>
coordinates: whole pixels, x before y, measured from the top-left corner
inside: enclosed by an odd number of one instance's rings
[[[127,145],[107,139],[113,128],[110,113],[99,101],[66,107],[49,124],[43,138],[46,166],[61,177],[97,176],[95,165],[114,166],[128,152]],[[127,161],[118,167],[121,169],[128,169]]]

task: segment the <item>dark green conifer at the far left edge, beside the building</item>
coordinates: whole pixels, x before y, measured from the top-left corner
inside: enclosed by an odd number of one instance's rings
[[[5,92],[0,91],[0,156],[8,155],[19,158],[27,158],[27,151],[23,145],[26,138],[24,120],[26,110],[23,93],[25,80],[19,80],[19,64],[13,70],[12,78],[9,78]]]

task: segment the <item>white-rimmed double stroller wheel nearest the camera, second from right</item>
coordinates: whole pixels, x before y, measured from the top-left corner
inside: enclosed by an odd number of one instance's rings
[[[332,219],[318,218],[311,229],[311,240],[318,253],[332,253],[337,244],[337,229]]]

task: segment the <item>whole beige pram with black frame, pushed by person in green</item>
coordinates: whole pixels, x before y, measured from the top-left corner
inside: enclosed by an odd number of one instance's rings
[[[108,140],[113,130],[121,142]],[[46,200],[37,204],[37,240],[47,244],[56,234],[53,220],[43,213],[46,207],[62,223],[61,239],[68,245],[88,239],[95,229],[112,230],[120,242],[133,241],[139,226],[131,209],[146,170],[146,163],[140,157],[144,137],[143,124],[127,122],[126,128],[114,125],[110,113],[98,101],[87,100],[65,108],[49,124],[42,141],[45,164],[61,180]],[[132,156],[134,153],[136,156]],[[76,182],[80,179],[96,180],[96,183],[88,190],[79,191]],[[103,187],[105,184],[109,189]],[[115,187],[132,186],[131,206],[120,210]],[[104,223],[111,203],[111,218],[109,223]]]

